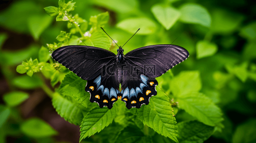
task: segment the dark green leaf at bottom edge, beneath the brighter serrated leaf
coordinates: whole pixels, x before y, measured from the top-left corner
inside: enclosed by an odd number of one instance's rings
[[[214,127],[198,121],[186,121],[177,124],[178,140],[180,143],[199,143],[207,140],[213,133]]]

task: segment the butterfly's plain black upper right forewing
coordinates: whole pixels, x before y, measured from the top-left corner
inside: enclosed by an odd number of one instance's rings
[[[158,77],[188,56],[188,51],[180,46],[163,44],[132,50],[125,55],[125,61],[131,65],[139,65],[142,72],[149,77]],[[146,72],[146,66],[153,66],[154,71]]]

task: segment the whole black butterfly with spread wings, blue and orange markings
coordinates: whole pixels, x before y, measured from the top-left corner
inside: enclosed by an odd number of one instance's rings
[[[97,47],[64,46],[55,50],[52,57],[87,80],[85,91],[90,92],[90,102],[111,109],[120,98],[131,109],[147,105],[150,97],[157,94],[155,77],[189,56],[186,49],[171,44],[141,47],[126,55],[123,52],[121,46],[117,55]]]

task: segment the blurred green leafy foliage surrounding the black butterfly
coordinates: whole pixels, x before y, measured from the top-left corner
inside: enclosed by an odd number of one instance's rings
[[[13,142],[62,141],[53,123],[24,118],[27,109],[21,105],[40,88],[63,119],[80,126],[80,142],[256,142],[255,7],[250,1],[221,0],[9,3],[0,11],[1,80],[9,86],[1,92],[0,143],[10,137]],[[100,27],[121,45],[140,28],[124,54],[172,43],[190,57],[157,78],[163,91],[157,87],[149,105],[128,110],[118,100],[111,110],[99,108],[87,98],[86,81],[55,62],[51,53],[84,43],[117,53]],[[13,35],[22,34],[33,40],[12,49],[10,40],[18,40]]]

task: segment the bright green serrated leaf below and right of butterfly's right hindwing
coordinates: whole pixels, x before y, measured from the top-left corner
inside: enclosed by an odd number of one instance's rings
[[[202,93],[192,92],[180,95],[177,102],[181,109],[206,125],[216,126],[223,120],[221,109]]]

